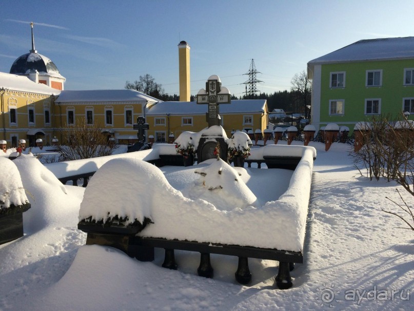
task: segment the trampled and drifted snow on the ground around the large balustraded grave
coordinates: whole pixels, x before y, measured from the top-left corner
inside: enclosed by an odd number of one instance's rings
[[[29,211],[52,212],[32,227],[26,227],[32,215],[25,212],[25,236],[0,245],[0,310],[413,309],[414,236],[396,228],[402,226],[397,217],[381,211],[396,210],[385,197],[400,202],[395,189],[401,187],[362,177],[349,145],[334,143],[327,152],[321,143],[310,145],[318,156],[304,263],[291,273],[292,288],[274,289],[274,261],[249,259],[252,283],[241,286],[234,281],[237,259],[230,256],[212,255],[214,279],[205,279],[196,275],[200,255],[194,252],[176,251],[174,271],[161,267],[161,249],[154,262],[139,262],[110,247],[86,246],[86,234],[76,229],[84,189],[65,186],[64,194],[51,183],[50,196],[62,198],[50,205],[52,198],[39,198],[40,182],[33,187],[36,183],[23,180],[25,188],[32,187]],[[266,189],[260,191],[277,191],[275,181],[265,178]]]

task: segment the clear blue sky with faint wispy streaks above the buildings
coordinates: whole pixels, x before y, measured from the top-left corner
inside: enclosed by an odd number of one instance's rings
[[[261,92],[289,90],[308,61],[353,42],[414,35],[413,0],[0,0],[0,71],[35,48],[65,89],[123,89],[151,74],[179,94],[178,44],[190,47],[191,94],[212,74],[243,94],[251,59]]]

